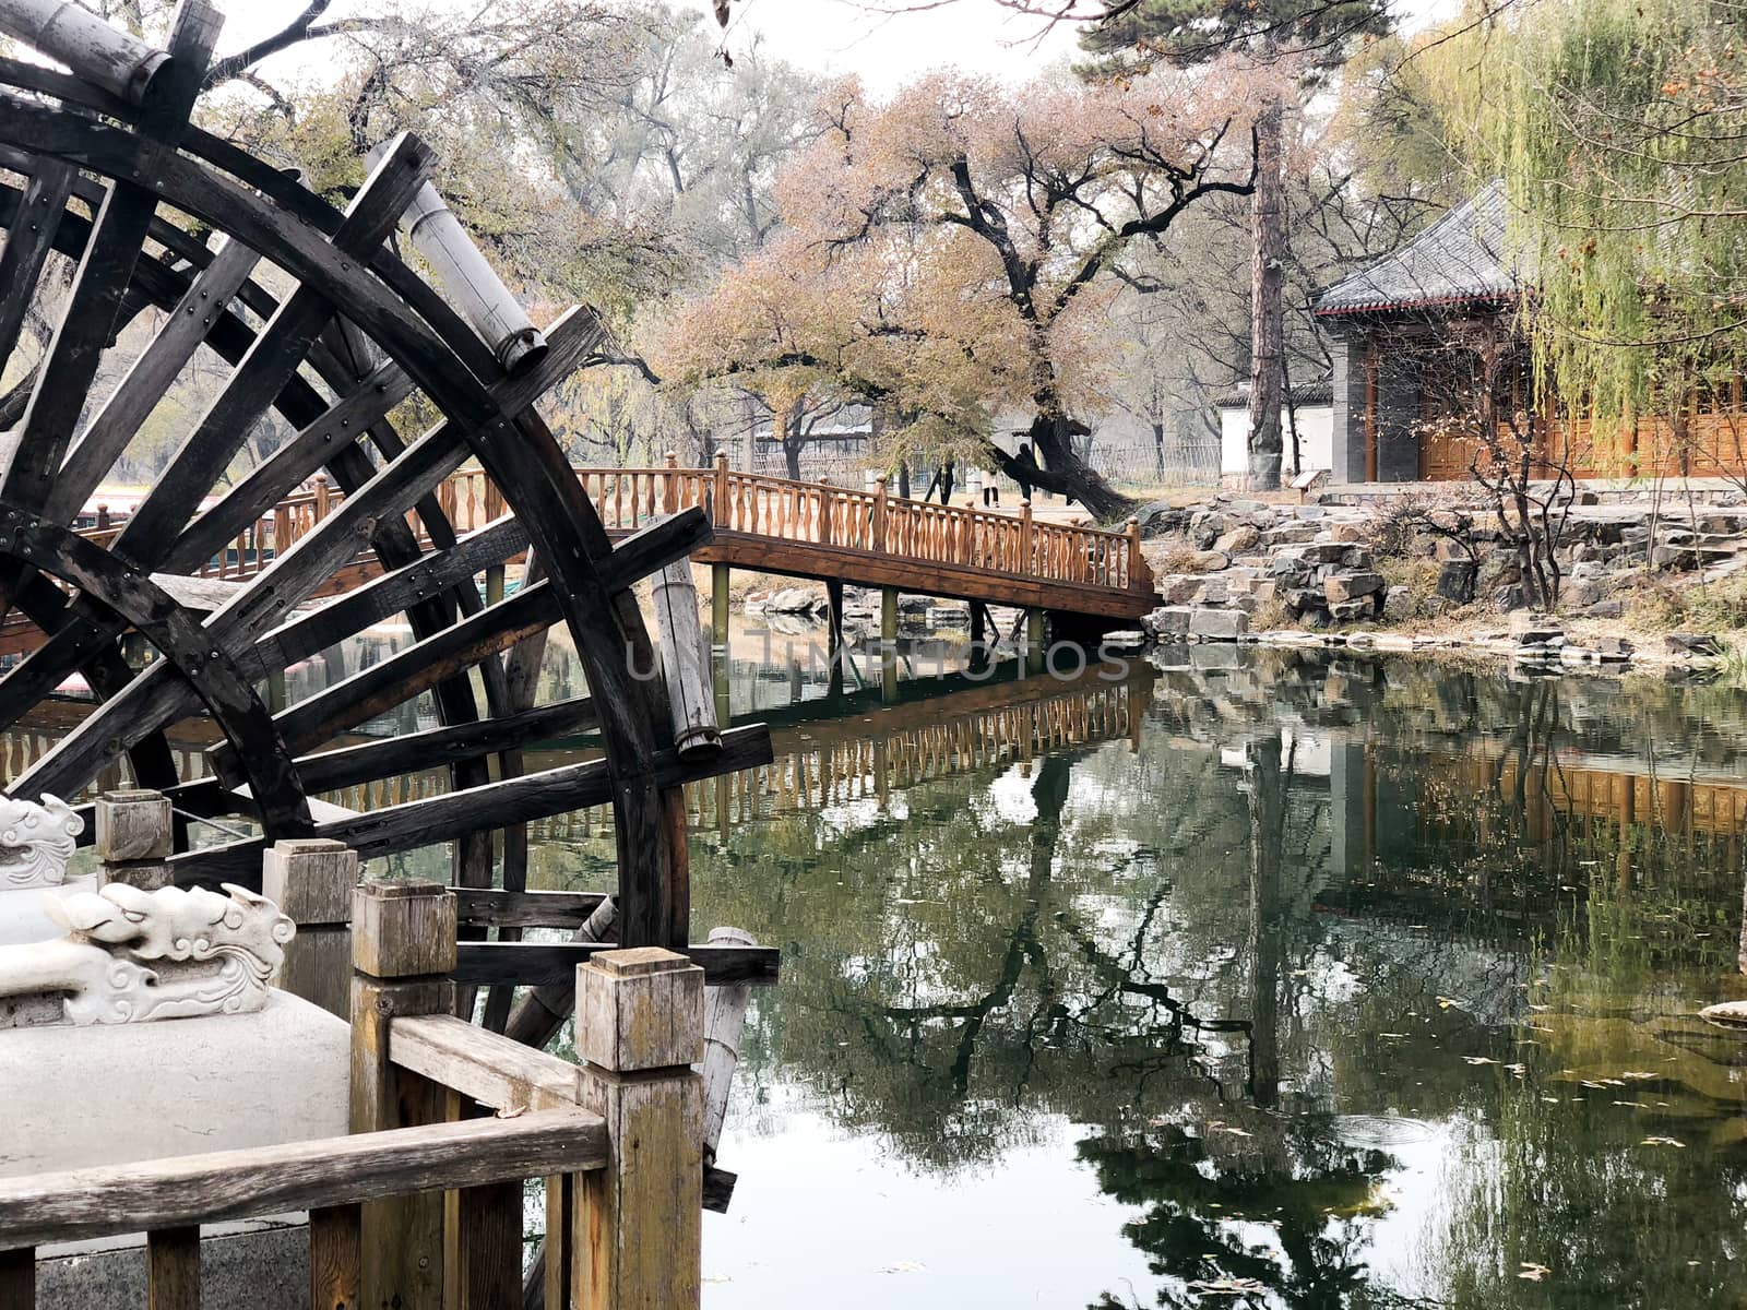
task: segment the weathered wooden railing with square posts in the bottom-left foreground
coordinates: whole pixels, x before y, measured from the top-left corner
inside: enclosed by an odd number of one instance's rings
[[[575,969],[570,1064],[452,1015],[456,924],[445,887],[356,893],[353,1135],[0,1181],[0,1307],[37,1305],[35,1247],[143,1231],[148,1303],[199,1310],[203,1226],[307,1210],[313,1310],[695,1310],[702,971]],[[528,1179],[547,1259],[524,1291]]]

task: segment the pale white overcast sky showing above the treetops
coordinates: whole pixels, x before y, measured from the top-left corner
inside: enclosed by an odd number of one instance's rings
[[[894,0],[901,3],[901,0]],[[1408,23],[1454,12],[1459,0],[1396,0]],[[283,28],[306,0],[220,0],[225,31],[220,51],[232,51]],[[477,0],[432,0],[432,3],[477,3]],[[674,0],[699,12],[708,0]],[[957,66],[970,72],[1022,80],[1029,73],[1074,52],[1074,24],[1053,30],[1025,19],[994,0],[957,3],[919,14],[880,16],[870,12],[887,0],[735,0],[728,49],[744,47],[753,33],[788,59],[825,73],[858,73],[875,91],[891,91],[931,68]],[[341,0],[330,12],[353,5]],[[711,26],[715,19],[711,19]],[[300,51],[300,68],[320,68],[318,51]]]

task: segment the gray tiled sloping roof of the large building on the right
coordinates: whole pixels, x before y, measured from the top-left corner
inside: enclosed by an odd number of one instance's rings
[[[1317,297],[1317,314],[1509,300],[1518,281],[1504,253],[1504,183],[1490,182],[1438,222]]]

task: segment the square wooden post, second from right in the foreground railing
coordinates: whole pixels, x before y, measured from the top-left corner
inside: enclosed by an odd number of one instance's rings
[[[370,882],[353,894],[351,1130],[442,1123],[440,1086],[397,1069],[388,1034],[404,1015],[454,1010],[454,893],[435,884]],[[444,1195],[370,1202],[362,1217],[362,1305],[442,1310]]]

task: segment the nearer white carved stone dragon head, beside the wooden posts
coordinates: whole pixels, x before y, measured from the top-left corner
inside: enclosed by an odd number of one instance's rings
[[[0,997],[63,996],[77,1025],[260,1010],[297,926],[266,896],[225,893],[112,884],[47,896],[66,936],[0,947]]]

